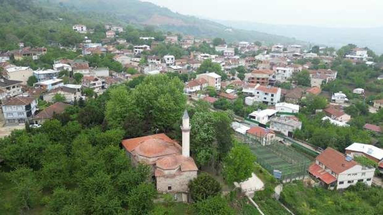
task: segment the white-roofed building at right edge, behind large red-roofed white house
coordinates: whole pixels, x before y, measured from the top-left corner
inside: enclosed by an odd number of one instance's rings
[[[365,156],[366,158],[379,163],[383,160],[383,149],[363,143],[352,143],[346,149],[346,155],[352,158]]]

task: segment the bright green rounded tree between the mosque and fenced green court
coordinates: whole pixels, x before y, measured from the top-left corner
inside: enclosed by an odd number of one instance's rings
[[[254,171],[255,156],[247,145],[235,143],[223,164],[223,175],[227,182],[242,182]]]

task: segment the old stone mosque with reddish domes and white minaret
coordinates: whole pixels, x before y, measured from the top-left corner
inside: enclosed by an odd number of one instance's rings
[[[165,134],[123,140],[121,143],[133,165],[151,167],[152,180],[159,193],[172,194],[176,201],[188,202],[188,184],[198,168],[190,157],[190,125],[187,111],[182,117],[182,147]]]

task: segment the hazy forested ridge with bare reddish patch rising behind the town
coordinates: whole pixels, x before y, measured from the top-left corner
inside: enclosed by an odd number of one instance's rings
[[[40,1],[46,2],[46,0]],[[304,43],[293,38],[259,31],[229,30],[227,26],[214,21],[181,15],[170,11],[168,8],[138,0],[50,0],[49,2],[56,7],[114,15],[119,21],[139,26],[152,25],[165,31],[200,37],[223,37],[229,42],[247,40],[251,42],[261,41],[265,44]]]

